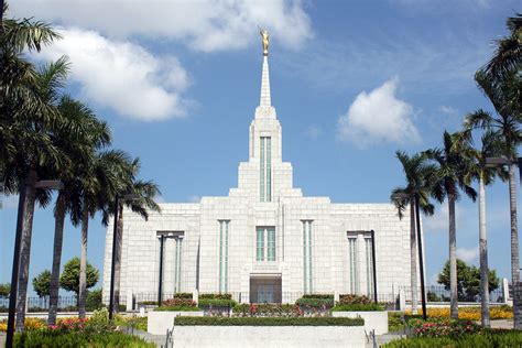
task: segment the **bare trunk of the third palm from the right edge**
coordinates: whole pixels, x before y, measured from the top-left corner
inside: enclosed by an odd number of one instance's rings
[[[449,210],[449,297],[450,315],[458,319],[458,293],[457,293],[457,228],[455,224],[455,195],[448,195]]]

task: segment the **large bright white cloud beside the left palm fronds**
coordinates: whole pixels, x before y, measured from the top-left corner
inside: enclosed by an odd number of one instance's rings
[[[94,31],[61,30],[63,39],[37,58],[67,55],[70,78],[81,97],[121,116],[152,121],[181,117],[188,101],[181,94],[189,79],[174,56],[152,55],[130,41],[112,41]]]

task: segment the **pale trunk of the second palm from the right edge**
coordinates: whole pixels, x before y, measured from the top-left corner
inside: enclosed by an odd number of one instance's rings
[[[486,235],[486,185],[483,173],[479,176],[479,252],[480,252],[480,302],[482,326],[490,327],[489,322],[489,270],[488,270],[488,237]]]

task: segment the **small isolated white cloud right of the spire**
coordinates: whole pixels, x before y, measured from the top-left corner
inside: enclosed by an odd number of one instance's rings
[[[358,146],[417,142],[420,135],[412,122],[413,107],[396,98],[396,87],[398,81],[390,79],[370,93],[361,91],[338,120],[338,139]]]

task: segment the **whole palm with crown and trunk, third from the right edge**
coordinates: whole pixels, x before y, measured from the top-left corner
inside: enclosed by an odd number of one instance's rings
[[[437,164],[432,186],[432,195],[441,204],[447,198],[449,213],[449,284],[450,315],[458,319],[457,294],[457,238],[455,221],[455,203],[459,199],[459,188],[474,202],[477,193],[469,185],[470,144],[468,139],[458,133],[444,132],[444,148],[425,151],[425,155]]]

